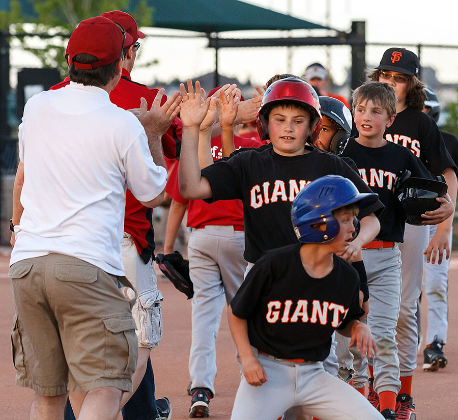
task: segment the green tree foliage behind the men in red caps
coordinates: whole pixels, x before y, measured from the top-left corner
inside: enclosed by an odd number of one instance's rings
[[[65,76],[65,48],[78,23],[110,10],[127,11],[129,0],[31,0],[31,3],[37,17],[25,16],[20,2],[11,1],[11,12],[0,12],[0,30],[10,32],[11,41],[17,40],[23,50],[36,55],[43,67],[57,68]],[[146,0],[129,13],[138,26],[151,25],[153,9],[146,5]]]

